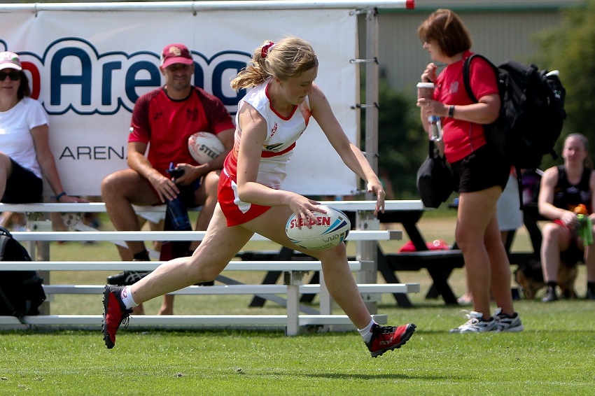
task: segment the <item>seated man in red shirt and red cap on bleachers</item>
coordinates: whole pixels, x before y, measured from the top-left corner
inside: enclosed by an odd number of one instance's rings
[[[235,126],[220,99],[190,84],[195,63],[186,45],[166,45],[160,70],[165,85],[139,97],[134,104],[128,136],[129,169],[104,178],[102,198],[118,231],[140,229],[133,204],[160,205],[178,196],[187,207],[202,206],[196,229],[204,231],[217,203],[219,174],[233,147]],[[188,138],[196,132],[216,134],[225,146],[223,153],[198,164],[188,151]],[[167,172],[171,164],[183,174],[172,177]],[[198,243],[193,242],[192,247]],[[143,241],[127,241],[127,246],[133,260],[149,260]],[[108,283],[132,285],[144,275],[124,271],[109,276]],[[165,296],[160,313],[173,313],[173,296]]]

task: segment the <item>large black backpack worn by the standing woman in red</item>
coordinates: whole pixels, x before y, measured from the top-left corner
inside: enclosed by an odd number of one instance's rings
[[[560,137],[566,111],[563,87],[556,71],[538,71],[534,64],[507,61],[498,67],[478,54],[465,59],[463,83],[472,101],[477,102],[470,87],[470,64],[482,57],[493,67],[500,90],[500,116],[486,125],[486,139],[497,148],[504,160],[519,169],[535,169],[546,154],[557,158],[554,145]]]

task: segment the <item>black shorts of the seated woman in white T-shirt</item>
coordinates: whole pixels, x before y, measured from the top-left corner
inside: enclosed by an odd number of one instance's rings
[[[12,158],[13,174],[6,181],[6,190],[1,202],[3,204],[31,204],[41,202],[43,181],[32,171],[17,164]]]

